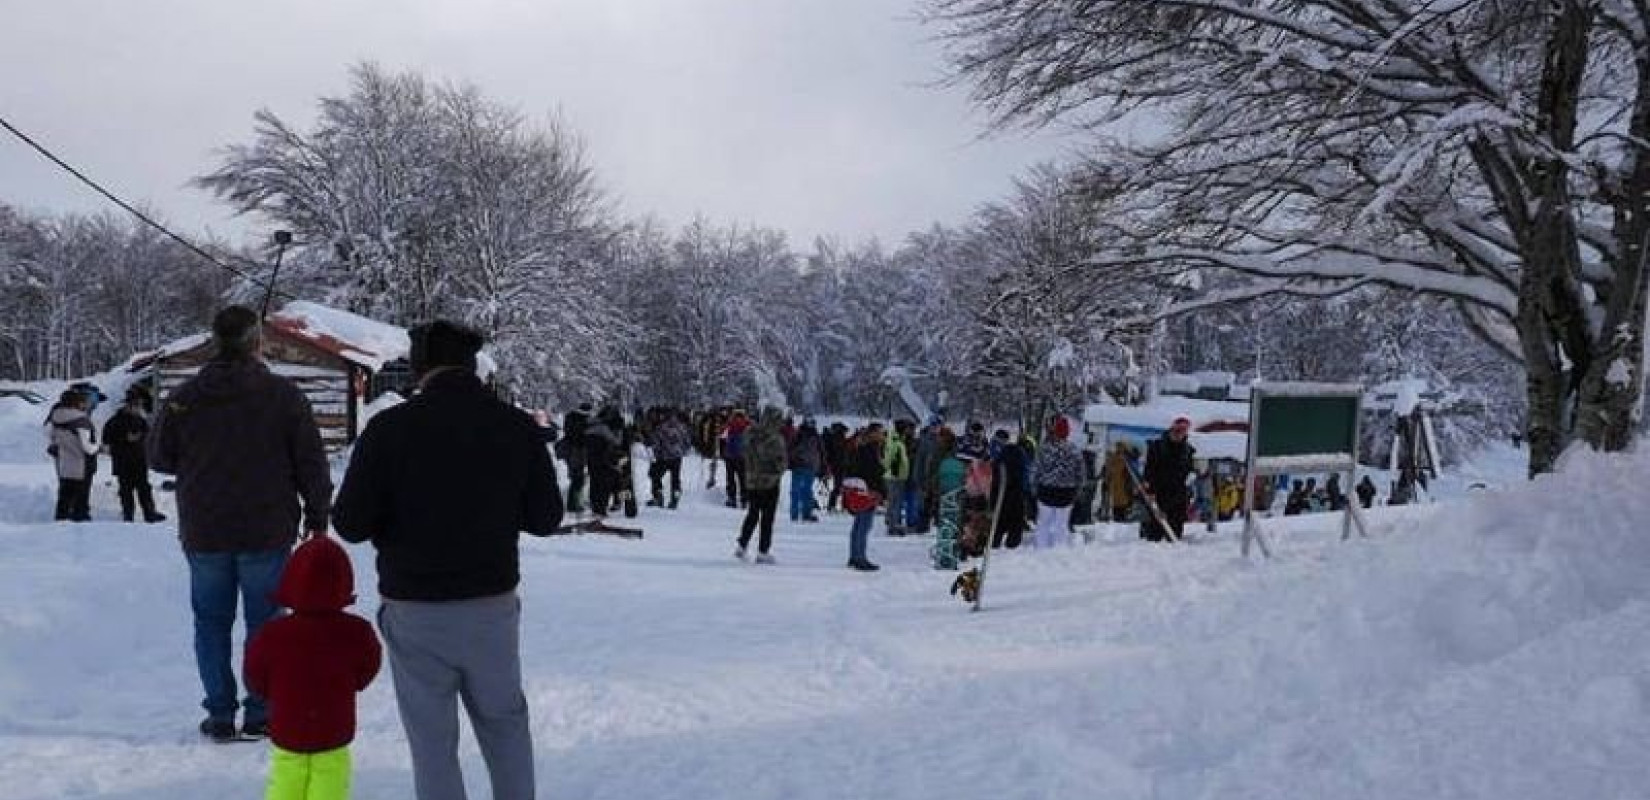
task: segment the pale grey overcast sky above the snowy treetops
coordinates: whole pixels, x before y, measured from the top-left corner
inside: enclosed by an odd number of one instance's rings
[[[962,221],[1054,135],[980,140],[912,0],[0,0],[0,115],[185,233],[246,234],[188,178],[252,112],[314,119],[361,59],[581,134],[627,214],[898,242]],[[0,201],[102,209],[0,132]]]

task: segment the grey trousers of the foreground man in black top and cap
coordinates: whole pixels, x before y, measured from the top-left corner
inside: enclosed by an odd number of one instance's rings
[[[384,599],[378,628],[412,751],[417,800],[465,800],[459,701],[487,760],[493,800],[533,798],[533,731],[521,693],[521,600]]]

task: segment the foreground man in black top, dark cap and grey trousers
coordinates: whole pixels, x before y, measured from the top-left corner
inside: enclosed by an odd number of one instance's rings
[[[526,414],[475,376],[480,335],[412,330],[419,393],[355,444],[333,521],[378,549],[378,625],[419,800],[465,797],[462,699],[498,798],[530,798],[533,736],[521,693],[518,538],[561,525],[554,464]]]

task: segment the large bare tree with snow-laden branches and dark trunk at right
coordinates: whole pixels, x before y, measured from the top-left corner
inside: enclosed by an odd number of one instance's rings
[[[927,0],[1002,124],[1097,139],[1137,219],[1096,266],[1457,305],[1528,374],[1531,472],[1625,447],[1642,391],[1650,7],[1637,0]]]

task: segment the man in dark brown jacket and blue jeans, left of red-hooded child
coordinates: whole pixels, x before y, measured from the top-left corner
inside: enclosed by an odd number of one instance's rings
[[[299,528],[327,531],[332,475],[304,393],[259,360],[257,313],[231,305],[211,328],[216,355],[167,398],[148,432],[148,462],[177,475],[195,665],[206,689],[201,734],[223,741],[234,736],[241,708],[229,666],[236,595],[251,642],[276,614],[271,595]],[[241,731],[267,729],[264,698],[248,693]]]

